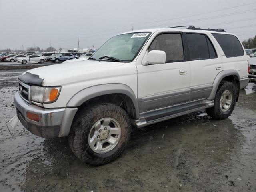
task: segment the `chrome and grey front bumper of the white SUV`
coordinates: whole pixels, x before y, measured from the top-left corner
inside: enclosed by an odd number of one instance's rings
[[[14,104],[17,116],[22,125],[35,134],[44,138],[68,136],[77,108],[47,109],[35,104],[29,104],[22,99],[19,92],[14,94]],[[27,118],[27,112],[37,114],[39,122]]]

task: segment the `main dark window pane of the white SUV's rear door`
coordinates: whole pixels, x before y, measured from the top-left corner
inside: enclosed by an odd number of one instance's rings
[[[206,36],[204,34],[187,34],[190,59],[210,58]]]

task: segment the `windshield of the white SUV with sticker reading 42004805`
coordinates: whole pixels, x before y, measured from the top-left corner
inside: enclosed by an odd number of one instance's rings
[[[93,54],[93,57],[96,60],[99,60],[100,57],[109,56],[122,61],[132,61],[149,36],[150,32],[129,33],[114,36],[103,44]]]

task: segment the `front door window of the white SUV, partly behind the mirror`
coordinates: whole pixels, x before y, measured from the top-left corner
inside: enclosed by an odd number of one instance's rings
[[[166,53],[166,62],[184,60],[181,34],[161,34],[158,35],[150,47],[151,50],[160,50]]]

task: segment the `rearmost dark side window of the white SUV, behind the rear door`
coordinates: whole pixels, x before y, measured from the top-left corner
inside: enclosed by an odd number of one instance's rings
[[[238,38],[234,35],[212,33],[220,44],[226,57],[238,57],[244,55],[244,50]]]

